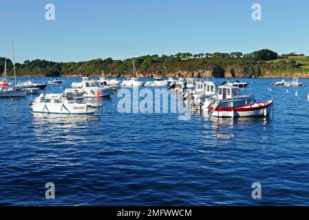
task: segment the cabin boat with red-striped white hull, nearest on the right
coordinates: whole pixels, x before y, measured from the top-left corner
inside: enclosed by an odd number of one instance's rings
[[[242,95],[238,87],[224,85],[218,87],[217,96],[205,100],[203,110],[220,118],[267,116],[273,102],[255,102],[255,96]]]

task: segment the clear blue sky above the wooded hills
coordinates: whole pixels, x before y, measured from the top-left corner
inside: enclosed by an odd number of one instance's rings
[[[45,20],[54,3],[56,20]],[[262,5],[262,21],[251,5]],[[17,62],[125,59],[178,52],[309,55],[309,1],[0,0],[0,56]]]

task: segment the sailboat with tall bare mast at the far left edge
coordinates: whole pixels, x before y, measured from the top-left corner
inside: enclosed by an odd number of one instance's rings
[[[27,90],[19,89],[16,87],[16,70],[15,70],[15,58],[14,58],[14,46],[12,42],[12,54],[13,54],[13,69],[15,84],[14,87],[0,87],[0,98],[11,98],[11,97],[25,97],[27,95]],[[6,61],[4,68],[4,76],[6,76]]]

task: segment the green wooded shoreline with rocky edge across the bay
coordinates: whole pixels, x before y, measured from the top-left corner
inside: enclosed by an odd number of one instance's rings
[[[295,56],[295,54],[293,54]],[[297,55],[297,54],[296,54]],[[299,54],[301,55],[301,54]],[[298,56],[298,55],[297,55]],[[298,68],[297,63],[266,63],[279,56],[276,52],[268,49],[259,50],[250,54],[242,52],[232,53],[178,53],[175,55],[158,54],[128,58],[123,61],[113,60],[112,58],[94,59],[84,62],[56,63],[36,59],[34,61],[24,61],[17,63],[18,76],[100,76],[104,69],[107,76],[129,76],[132,72],[132,60],[135,60],[138,72],[142,74],[160,74],[164,76],[169,72],[194,71],[204,69],[210,65],[219,67],[235,65],[240,67],[247,66],[266,66],[268,68]],[[12,76],[12,61],[7,59],[8,75]],[[4,58],[0,57],[0,74],[4,69]]]

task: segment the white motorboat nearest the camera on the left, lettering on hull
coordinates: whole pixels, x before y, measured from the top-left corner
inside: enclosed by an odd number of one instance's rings
[[[60,114],[93,114],[100,106],[100,104],[76,102],[70,96],[61,94],[41,94],[30,104],[34,112]]]

